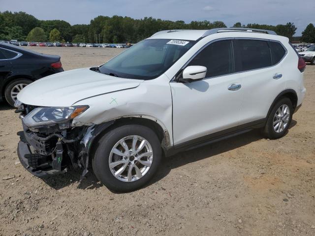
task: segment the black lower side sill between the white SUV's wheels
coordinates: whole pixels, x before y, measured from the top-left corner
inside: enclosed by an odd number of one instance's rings
[[[189,140],[185,143],[178,144],[173,146],[172,148],[164,149],[165,156],[172,156],[176,153],[191,150],[194,148],[202,147],[208,144],[212,144],[215,142],[219,142],[224,139],[228,139],[239,134],[243,134],[249,132],[256,128],[264,127],[266,123],[266,118],[252,121],[250,123],[238,125],[229,129],[225,129],[213,134],[209,134],[197,139]]]

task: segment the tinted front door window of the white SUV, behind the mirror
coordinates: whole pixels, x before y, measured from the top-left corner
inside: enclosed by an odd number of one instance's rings
[[[233,73],[232,41],[221,40],[209,44],[189,65],[207,67],[206,78]]]

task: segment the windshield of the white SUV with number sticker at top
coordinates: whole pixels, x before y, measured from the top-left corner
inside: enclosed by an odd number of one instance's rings
[[[170,39],[146,39],[99,67],[112,76],[151,80],[163,74],[196,42]]]

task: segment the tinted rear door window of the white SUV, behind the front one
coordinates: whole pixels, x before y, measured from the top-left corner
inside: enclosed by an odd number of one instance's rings
[[[267,41],[237,39],[233,42],[236,72],[272,65]]]

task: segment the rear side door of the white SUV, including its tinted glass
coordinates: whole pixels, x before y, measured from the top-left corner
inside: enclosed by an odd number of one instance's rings
[[[285,86],[281,60],[286,51],[280,42],[263,39],[235,39],[233,48],[244,89],[240,124],[263,121]]]

